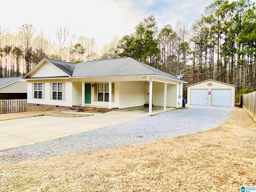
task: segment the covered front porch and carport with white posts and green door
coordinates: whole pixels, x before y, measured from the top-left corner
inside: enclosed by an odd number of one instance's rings
[[[163,112],[182,106],[182,83],[152,76],[80,79],[73,81],[73,101],[100,112],[143,106],[152,115],[156,107]]]

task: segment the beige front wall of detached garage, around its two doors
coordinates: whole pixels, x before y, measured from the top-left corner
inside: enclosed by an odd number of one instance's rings
[[[208,83],[211,82],[212,86],[208,86]],[[219,83],[215,81],[206,81],[202,83],[198,83],[192,86],[188,87],[188,96],[187,96],[187,104],[190,105],[190,90],[191,89],[208,89],[208,91],[211,91],[212,89],[231,89],[231,106],[235,106],[235,87],[224,84],[224,83]],[[211,95],[208,95],[208,106],[211,105]]]

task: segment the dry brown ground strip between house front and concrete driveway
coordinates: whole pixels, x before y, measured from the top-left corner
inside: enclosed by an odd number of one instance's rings
[[[69,110],[69,107],[64,106],[48,106],[48,105],[29,105],[27,112],[22,113],[10,113],[10,114],[0,114],[0,121],[3,120],[11,120],[11,119],[19,119],[19,118],[27,118],[27,117],[35,117],[35,116],[58,116],[58,117],[84,117],[90,116],[86,113],[84,114],[69,114],[69,113],[61,113],[62,111]]]

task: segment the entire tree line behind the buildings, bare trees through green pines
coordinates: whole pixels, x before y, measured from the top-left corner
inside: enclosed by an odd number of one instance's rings
[[[94,38],[71,36],[56,28],[54,42],[24,24],[18,34],[0,28],[0,77],[23,76],[42,58],[78,63],[132,57],[168,74],[184,74],[189,84],[214,79],[237,90],[256,90],[256,6],[250,0],[215,0],[190,28],[178,20],[174,28],[158,29],[153,15],[144,18],[130,35],[99,51]]]

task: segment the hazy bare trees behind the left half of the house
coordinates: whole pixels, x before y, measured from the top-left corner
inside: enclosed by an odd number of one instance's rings
[[[24,76],[45,57],[71,63],[113,58],[117,42],[114,36],[98,50],[95,38],[70,36],[66,26],[56,28],[54,40],[28,23],[17,34],[0,26],[0,78]]]

